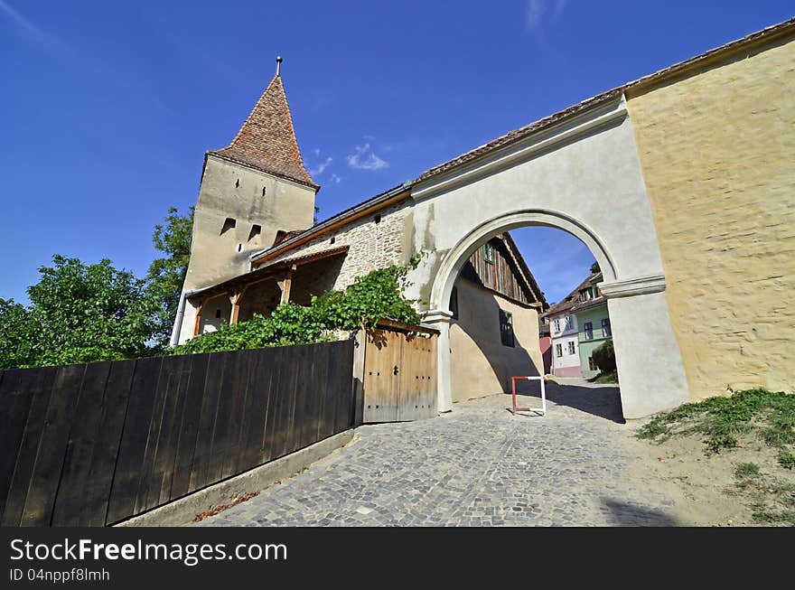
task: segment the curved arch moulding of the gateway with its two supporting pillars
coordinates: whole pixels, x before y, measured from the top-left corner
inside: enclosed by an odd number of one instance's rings
[[[452,409],[449,348],[452,314],[448,305],[455,279],[472,252],[485,241],[503,231],[528,226],[562,229],[574,235],[591,250],[602,268],[601,287],[608,298],[611,314],[624,417],[648,416],[687,401],[684,368],[662,293],[664,276],[637,276],[638,269],[622,267],[622,263],[613,257],[609,243],[586,223],[561,211],[539,208],[511,211],[484,221],[466,232],[440,261],[431,286],[429,311],[426,312],[426,322],[434,324],[441,332],[437,347],[439,410]],[[633,334],[639,331],[642,336],[640,344],[638,338],[633,338]],[[655,370],[650,361],[654,358],[661,361],[660,374],[657,377],[650,374],[649,382],[644,383],[642,380],[647,379],[644,370]]]

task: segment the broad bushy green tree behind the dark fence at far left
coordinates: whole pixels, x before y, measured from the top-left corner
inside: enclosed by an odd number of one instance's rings
[[[38,367],[145,356],[156,309],[145,282],[110,260],[52,257],[28,287],[31,304],[0,305],[0,366]],[[6,328],[8,332],[6,333]]]

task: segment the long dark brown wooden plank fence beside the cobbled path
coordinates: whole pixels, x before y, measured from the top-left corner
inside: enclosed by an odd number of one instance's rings
[[[353,346],[0,371],[2,524],[113,524],[350,428]]]

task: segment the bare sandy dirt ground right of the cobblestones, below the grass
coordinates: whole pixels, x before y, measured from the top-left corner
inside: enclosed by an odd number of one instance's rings
[[[633,426],[637,431],[641,423]],[[795,509],[795,472],[778,464],[776,452],[753,437],[737,448],[706,454],[699,436],[683,436],[662,444],[642,441],[647,453],[639,469],[650,485],[669,491],[676,516],[686,526],[788,526],[765,523],[753,514]],[[759,474],[738,475],[740,464],[756,464]]]

